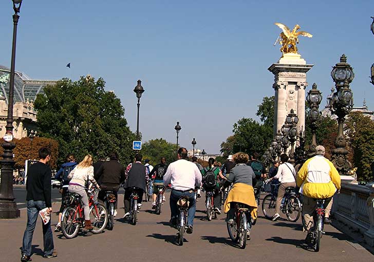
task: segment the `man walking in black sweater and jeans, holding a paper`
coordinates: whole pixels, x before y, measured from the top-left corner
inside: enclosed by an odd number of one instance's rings
[[[31,241],[34,233],[36,220],[38,220],[39,211],[47,207],[47,213],[52,213],[51,203],[51,168],[47,162],[51,158],[51,150],[46,147],[39,149],[39,162],[30,166],[27,174],[27,224],[23,237],[21,261],[30,261]],[[53,237],[51,230],[51,221],[43,225],[44,257],[56,257],[54,251]]]

